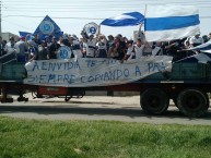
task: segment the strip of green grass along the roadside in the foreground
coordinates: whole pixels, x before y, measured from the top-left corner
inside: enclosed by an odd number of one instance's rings
[[[211,126],[0,117],[0,158],[211,158]]]

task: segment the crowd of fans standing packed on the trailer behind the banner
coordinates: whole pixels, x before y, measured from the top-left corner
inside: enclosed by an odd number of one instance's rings
[[[80,39],[75,35],[65,34],[59,39],[46,36],[45,40],[39,40],[38,36],[35,36],[27,41],[27,36],[21,37],[19,41],[14,41],[14,38],[10,37],[9,42],[0,37],[0,56],[15,53],[20,62],[57,59],[59,48],[68,46],[71,48],[70,58],[114,58],[122,63],[126,60],[139,59],[143,56],[166,54],[172,56],[173,61],[177,61],[199,53],[188,49],[211,39],[211,33],[208,36],[200,37],[200,34],[197,34],[192,37],[165,42],[148,42],[143,34],[140,34],[141,36],[136,41],[128,40],[120,34],[94,37],[82,32],[81,35]]]

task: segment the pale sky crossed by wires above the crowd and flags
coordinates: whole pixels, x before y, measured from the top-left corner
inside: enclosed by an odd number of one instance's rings
[[[2,0],[2,33],[19,35],[21,32],[34,33],[46,15],[49,15],[67,34],[80,36],[84,25],[117,16],[121,13],[138,11],[144,14],[149,4],[183,4],[196,5],[199,9],[201,35],[211,33],[210,0]],[[109,27],[101,26],[101,33],[108,35],[122,34],[133,37],[139,26]]]

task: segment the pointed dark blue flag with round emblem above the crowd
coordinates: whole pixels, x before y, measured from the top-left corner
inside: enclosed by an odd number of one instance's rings
[[[43,40],[46,36],[55,36],[56,38],[59,38],[63,35],[63,32],[61,32],[60,27],[48,15],[46,15],[34,32],[34,35],[38,35],[39,39]]]

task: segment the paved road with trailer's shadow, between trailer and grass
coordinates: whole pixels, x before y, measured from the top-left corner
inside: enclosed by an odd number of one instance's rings
[[[30,102],[1,104],[0,116],[48,120],[115,120],[145,123],[178,123],[211,125],[211,110],[201,119],[188,119],[171,106],[165,116],[144,114],[139,97],[91,97],[71,99],[38,99]]]

